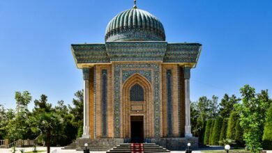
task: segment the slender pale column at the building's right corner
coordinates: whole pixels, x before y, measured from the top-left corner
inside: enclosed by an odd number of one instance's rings
[[[183,67],[185,87],[185,137],[192,137],[190,121],[190,67]]]

